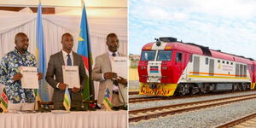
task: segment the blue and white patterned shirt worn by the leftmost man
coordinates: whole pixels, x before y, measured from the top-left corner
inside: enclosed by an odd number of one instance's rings
[[[20,80],[13,80],[14,75],[20,73],[21,66],[37,67],[36,57],[28,51],[20,55],[17,49],[4,55],[0,61],[0,83],[5,84],[9,102],[35,102],[33,90],[23,89]]]

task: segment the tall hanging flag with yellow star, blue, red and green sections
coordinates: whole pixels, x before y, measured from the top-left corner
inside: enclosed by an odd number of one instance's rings
[[[93,95],[92,99],[94,100],[94,84],[91,79],[91,66],[93,61],[91,57],[89,26],[86,17],[85,6],[83,7],[80,25],[78,54],[82,55],[86,72],[86,83],[84,85],[83,99]]]

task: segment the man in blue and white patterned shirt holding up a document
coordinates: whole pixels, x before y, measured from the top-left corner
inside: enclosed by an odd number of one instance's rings
[[[15,35],[15,49],[4,55],[0,61],[0,83],[5,85],[9,111],[33,110],[35,96],[32,89],[23,89],[20,79],[21,66],[37,67],[36,57],[27,51],[28,38],[25,33],[19,32]],[[38,73],[38,79],[43,74]]]

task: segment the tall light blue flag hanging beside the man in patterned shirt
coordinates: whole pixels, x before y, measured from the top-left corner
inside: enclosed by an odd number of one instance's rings
[[[43,73],[43,79],[39,81],[39,90],[34,90],[35,96],[36,96],[36,103],[38,101],[41,101],[41,98],[43,101],[49,102],[48,85],[44,79],[46,75],[46,60],[45,60],[45,54],[44,54],[44,31],[43,31],[41,3],[38,4],[36,32],[37,32],[36,57],[38,60],[38,73]]]

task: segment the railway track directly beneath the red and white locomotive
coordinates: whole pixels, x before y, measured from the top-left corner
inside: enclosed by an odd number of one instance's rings
[[[209,93],[203,95],[192,95],[192,96],[148,96],[148,97],[134,97],[129,98],[129,103],[137,103],[137,102],[153,102],[153,101],[160,101],[160,100],[174,100],[174,99],[184,99],[184,98],[191,98],[191,97],[201,97],[201,96],[215,96],[215,95],[223,95],[223,94],[234,94],[240,93],[245,91],[256,91],[256,90],[241,90],[241,91],[226,91],[226,92],[217,92],[217,93]]]

